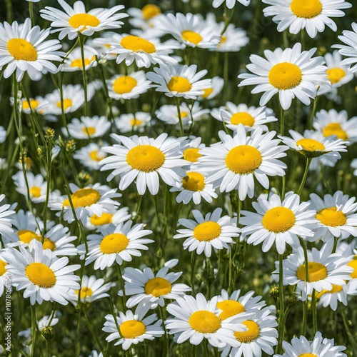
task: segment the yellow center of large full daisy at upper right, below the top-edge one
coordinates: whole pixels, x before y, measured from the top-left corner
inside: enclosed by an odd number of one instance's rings
[[[272,67],[268,79],[273,87],[284,91],[298,86],[303,79],[303,74],[296,64],[283,62]]]

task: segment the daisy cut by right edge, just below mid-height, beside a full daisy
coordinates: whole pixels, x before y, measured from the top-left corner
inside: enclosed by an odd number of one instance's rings
[[[320,198],[316,193],[311,193],[311,209],[316,211],[318,227],[312,241],[321,238],[323,241],[332,240],[333,237],[346,239],[357,236],[357,202],[355,197],[344,195],[336,191],[333,196],[327,194]]]

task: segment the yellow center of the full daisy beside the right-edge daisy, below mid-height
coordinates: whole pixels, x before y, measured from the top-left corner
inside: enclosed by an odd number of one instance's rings
[[[291,209],[286,207],[274,207],[266,211],[261,224],[270,232],[282,233],[291,229],[295,222],[296,217]]]

